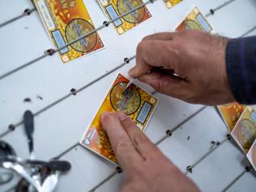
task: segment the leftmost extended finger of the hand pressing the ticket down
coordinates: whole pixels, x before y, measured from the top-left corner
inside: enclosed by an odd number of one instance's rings
[[[114,113],[102,113],[100,120],[101,125],[109,135],[109,140],[117,156],[118,163],[123,169],[129,169],[143,161],[143,158],[135,150],[128,134],[126,134],[126,131]]]

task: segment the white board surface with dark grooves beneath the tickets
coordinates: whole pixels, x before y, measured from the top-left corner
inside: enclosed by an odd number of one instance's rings
[[[96,26],[107,20],[96,0],[84,0],[84,2]],[[117,36],[112,25],[100,30],[106,49],[79,58],[65,66],[62,65],[58,54],[54,54],[1,79],[0,133],[8,130],[9,125],[20,122],[26,109],[37,113],[69,94],[71,88],[83,87],[120,65],[124,58],[134,56],[136,45],[143,36],[154,32],[173,31],[193,6],[198,6],[204,14],[207,14],[210,9],[224,2],[227,1],[185,0],[168,10],[164,2],[158,0],[147,6],[152,18],[134,30],[122,36]],[[9,0],[1,1],[0,7],[2,8],[0,23],[2,23],[21,14],[24,9],[32,8],[32,4],[28,0]],[[241,36],[256,26],[256,1],[235,0],[215,11],[215,14],[208,16],[207,19],[221,35]],[[250,35],[256,35],[256,29],[247,34]],[[53,48],[36,11],[0,28],[0,36],[2,45],[0,75],[40,56],[46,49]],[[126,75],[133,65],[134,61],[117,72]],[[92,84],[76,96],[67,97],[35,117],[36,158],[49,160],[79,142],[117,72]],[[37,96],[41,96],[43,100]],[[166,130],[172,130],[203,107],[186,104],[181,100],[160,94],[156,96],[160,100],[160,105],[146,131],[154,143],[164,136]],[[26,97],[31,98],[32,102],[24,103]],[[218,113],[212,107],[207,107],[184,123],[182,129],[178,129],[171,137],[160,143],[159,147],[185,172],[186,166],[194,164],[209,150],[212,140],[221,141],[225,139],[226,134],[227,130]],[[188,136],[190,136],[189,140]],[[17,126],[14,131],[1,139],[11,143],[19,156],[28,157],[28,144],[23,125]],[[90,190],[116,169],[113,164],[80,146],[74,147],[61,158],[70,160],[73,167],[70,173],[61,177],[57,191]],[[203,191],[221,191],[244,171],[247,163],[241,151],[227,141],[194,167],[193,173],[188,173],[188,176]],[[229,191],[254,191],[256,182],[252,173],[245,173],[229,188]],[[118,191],[122,181],[123,173],[117,173],[96,191]],[[0,186],[0,191],[14,185],[15,181]]]

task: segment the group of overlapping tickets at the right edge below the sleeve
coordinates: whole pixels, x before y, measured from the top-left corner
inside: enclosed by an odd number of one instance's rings
[[[256,107],[235,102],[218,109],[233,139],[256,170]]]

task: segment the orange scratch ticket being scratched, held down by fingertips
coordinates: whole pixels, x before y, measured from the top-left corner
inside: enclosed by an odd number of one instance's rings
[[[91,125],[88,126],[80,141],[84,147],[87,147],[115,164],[117,164],[117,159],[114,156],[109,138],[105,130],[101,127],[100,114],[105,111],[115,112],[121,110],[143,131],[157,104],[157,99],[154,96],[151,96],[151,94],[143,91],[143,89],[134,84],[131,84],[123,92],[127,83],[129,83],[129,80],[123,75],[119,74],[117,76],[103,104],[100,106]]]

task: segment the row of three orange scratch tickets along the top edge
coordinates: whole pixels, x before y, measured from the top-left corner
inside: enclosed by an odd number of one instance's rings
[[[83,0],[33,1],[53,44],[56,49],[61,49],[58,53],[63,63],[105,48],[98,32],[93,32],[95,26]],[[164,0],[164,2],[170,8],[181,0]],[[109,20],[116,19],[113,22],[113,27],[119,35],[151,18],[147,7],[142,6],[117,19],[120,15],[139,7],[143,3],[142,0],[98,0],[98,3]],[[92,34],[66,46],[89,32]]]

